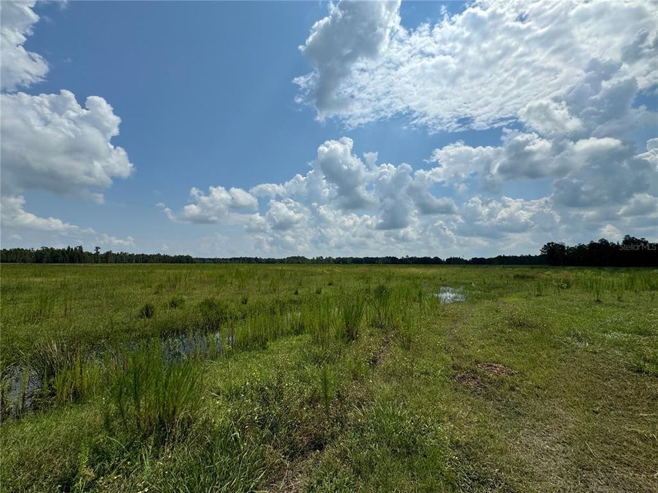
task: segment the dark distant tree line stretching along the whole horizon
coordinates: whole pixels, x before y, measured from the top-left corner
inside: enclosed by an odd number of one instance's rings
[[[624,236],[621,242],[600,239],[569,247],[548,242],[539,255],[497,255],[496,257],[192,257],[162,253],[94,252],[82,247],[61,249],[2,249],[3,264],[421,264],[421,265],[552,265],[552,266],[658,266],[658,243]]]

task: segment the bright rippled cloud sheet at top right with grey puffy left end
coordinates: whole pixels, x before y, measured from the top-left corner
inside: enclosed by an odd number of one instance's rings
[[[524,112],[535,124],[548,117],[542,130],[560,122],[577,129],[560,105],[535,102],[587,73],[593,58],[617,60],[616,77],[635,79],[640,90],[658,82],[650,0],[483,0],[409,30],[398,5],[363,4],[332,6],[304,45],[315,70],[295,79],[298,99],[320,118],[354,126],[405,115],[437,131],[502,125]]]

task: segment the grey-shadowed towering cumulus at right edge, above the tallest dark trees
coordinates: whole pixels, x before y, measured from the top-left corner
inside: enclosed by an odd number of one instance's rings
[[[432,173],[458,189],[489,193],[509,181],[551,179],[546,199],[573,230],[596,233],[610,221],[644,227],[648,216],[643,223],[633,211],[647,211],[658,195],[658,139],[640,152],[635,139],[656,135],[658,115],[634,103],[639,85],[619,60],[592,59],[551,99],[526,104],[524,128],[503,129],[500,145],[435,149]]]

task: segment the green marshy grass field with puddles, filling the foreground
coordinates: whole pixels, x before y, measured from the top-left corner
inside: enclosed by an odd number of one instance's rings
[[[655,492],[657,294],[639,269],[4,265],[0,490]]]

